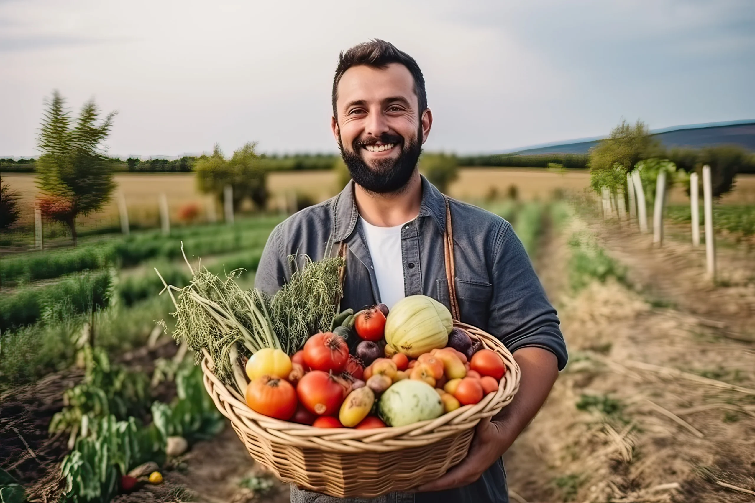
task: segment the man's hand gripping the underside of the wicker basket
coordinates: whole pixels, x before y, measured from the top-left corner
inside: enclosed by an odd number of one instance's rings
[[[516,434],[519,432],[517,431]],[[468,486],[475,482],[485,470],[504,455],[516,440],[516,434],[507,432],[504,425],[490,418],[482,419],[475,428],[474,437],[467,457],[438,480],[423,484],[417,492],[442,491]]]

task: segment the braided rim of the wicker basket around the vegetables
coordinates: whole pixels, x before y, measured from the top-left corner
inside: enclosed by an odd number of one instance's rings
[[[487,332],[466,323],[454,321],[454,326],[464,329],[473,340],[483,347],[501,355],[507,372],[498,384],[495,393],[488,393],[476,404],[461,406],[439,418],[418,421],[400,427],[386,426],[368,430],[354,428],[317,428],[309,424],[270,418],[254,412],[233,388],[228,387],[214,375],[211,360],[205,353],[202,359],[205,388],[214,400],[217,409],[248,434],[267,437],[274,443],[293,444],[301,447],[334,452],[370,452],[400,450],[410,446],[427,445],[442,440],[462,430],[470,429],[482,419],[498,414],[513,399],[519,389],[520,370],[513,355],[504,344]]]

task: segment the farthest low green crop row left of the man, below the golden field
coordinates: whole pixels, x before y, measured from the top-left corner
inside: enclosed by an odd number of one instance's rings
[[[180,241],[186,254],[195,257],[260,248],[279,221],[278,217],[267,217],[242,221],[233,227],[188,227],[171,232],[170,236],[157,232],[138,233],[72,250],[5,258],[0,261],[0,285],[57,278],[108,266],[134,266],[153,258],[180,258]]]

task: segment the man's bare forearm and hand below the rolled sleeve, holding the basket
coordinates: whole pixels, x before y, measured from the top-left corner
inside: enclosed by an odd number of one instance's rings
[[[538,413],[559,374],[556,356],[540,347],[522,347],[513,356],[522,370],[522,376],[519,391],[511,403],[492,420],[482,420],[477,424],[472,445],[464,461],[438,480],[419,486],[416,491],[442,491],[475,482],[504,455]]]

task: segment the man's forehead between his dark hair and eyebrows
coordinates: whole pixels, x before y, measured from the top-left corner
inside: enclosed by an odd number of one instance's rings
[[[414,77],[400,63],[390,63],[384,68],[352,66],[338,82],[337,93],[336,106],[339,109],[357,100],[381,102],[390,97],[403,97],[414,106],[418,105]]]

